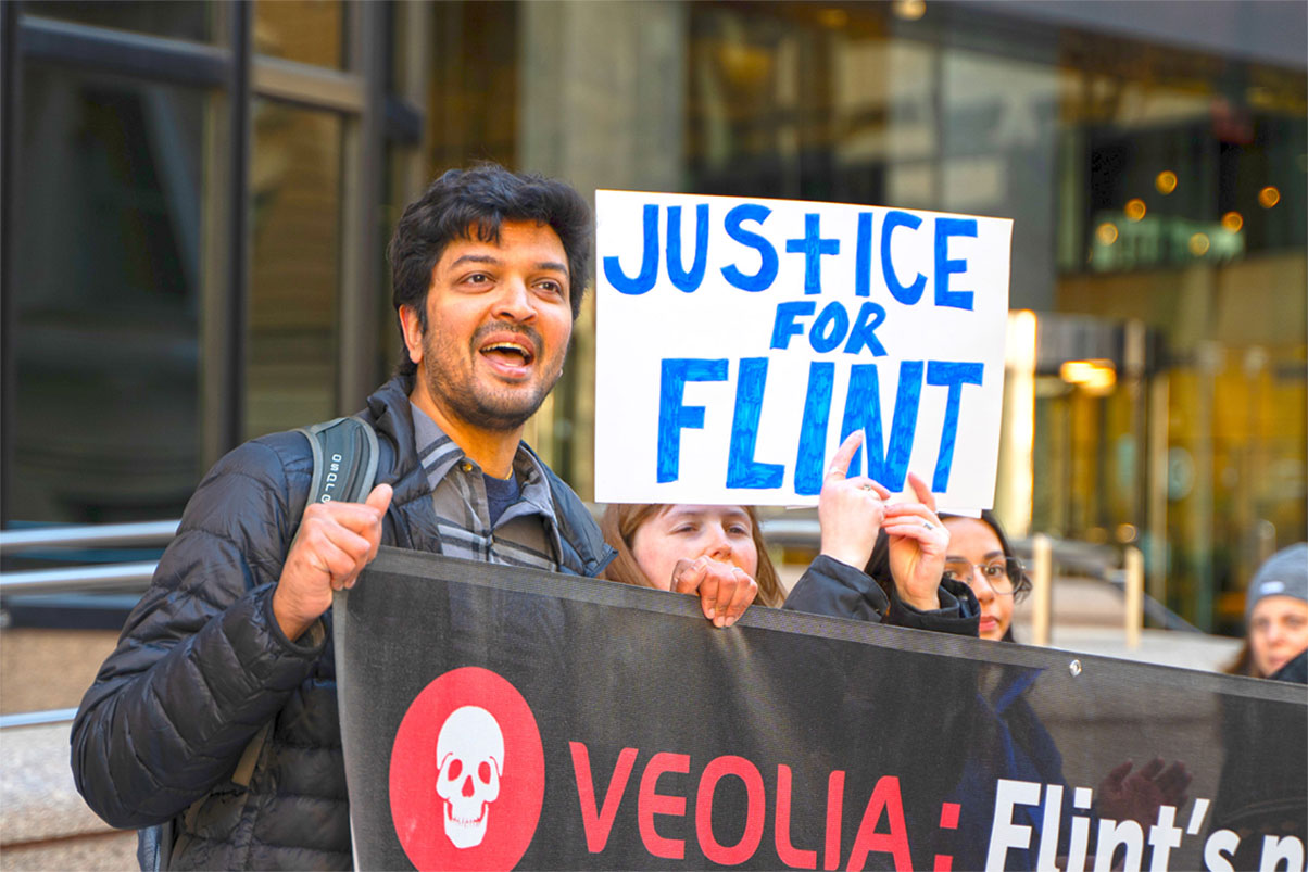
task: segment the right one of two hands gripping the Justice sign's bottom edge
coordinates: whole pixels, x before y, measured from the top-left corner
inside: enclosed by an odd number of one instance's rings
[[[935,514],[935,497],[925,481],[909,473],[917,502],[886,506],[882,526],[891,537],[891,575],[899,597],[916,609],[940,608],[940,577],[950,531]]]

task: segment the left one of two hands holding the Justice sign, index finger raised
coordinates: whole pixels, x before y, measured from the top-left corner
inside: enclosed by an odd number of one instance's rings
[[[862,444],[862,430],[849,434],[841,443],[831,459],[818,497],[821,553],[854,569],[863,569],[872,556],[886,510],[883,501],[891,495],[867,476],[845,477],[854,452]]]

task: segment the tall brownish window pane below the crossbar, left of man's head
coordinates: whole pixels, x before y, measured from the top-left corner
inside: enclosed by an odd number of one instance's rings
[[[336,408],[341,136],[337,115],[255,101],[247,437]]]

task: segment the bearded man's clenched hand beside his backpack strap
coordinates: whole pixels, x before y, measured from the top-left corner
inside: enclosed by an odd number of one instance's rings
[[[305,507],[300,531],[272,594],[272,613],[288,639],[298,639],[323,612],[332,594],[354,586],[377,557],[391,486],[377,485],[364,502],[315,502]]]

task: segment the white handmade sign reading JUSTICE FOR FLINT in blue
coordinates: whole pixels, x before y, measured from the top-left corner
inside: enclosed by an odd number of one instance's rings
[[[812,505],[909,471],[990,507],[1012,222],[596,191],[595,498]]]

